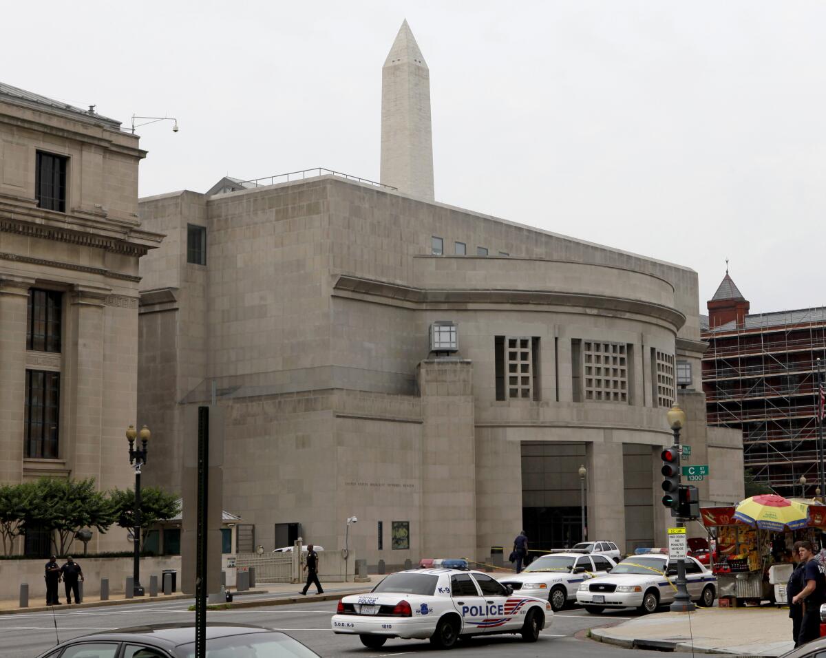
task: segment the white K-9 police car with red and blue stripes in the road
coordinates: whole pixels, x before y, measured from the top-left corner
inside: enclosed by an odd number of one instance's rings
[[[547,601],[515,595],[481,571],[415,569],[387,575],[370,594],[345,596],[330,624],[371,649],[388,637],[430,639],[447,649],[459,637],[488,633],[534,642],[552,617]]]

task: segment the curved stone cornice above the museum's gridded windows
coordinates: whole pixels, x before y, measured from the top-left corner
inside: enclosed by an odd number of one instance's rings
[[[424,289],[350,277],[344,274],[340,275],[335,282],[334,296],[335,291],[378,297],[387,304],[414,308],[417,306],[426,308],[430,305],[460,306],[468,304],[579,306],[586,309],[610,310],[656,318],[672,326],[675,331],[686,323],[686,316],[682,315],[680,311],[661,304],[624,297],[586,295],[564,291]]]

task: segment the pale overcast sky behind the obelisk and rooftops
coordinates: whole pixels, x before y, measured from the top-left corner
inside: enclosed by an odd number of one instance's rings
[[[381,67],[430,67],[437,201],[826,305],[826,2],[17,2],[3,82],[131,123],[140,194],[379,178]]]

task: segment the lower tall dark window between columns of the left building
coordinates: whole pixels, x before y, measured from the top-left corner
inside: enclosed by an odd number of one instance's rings
[[[57,458],[60,373],[26,371],[24,436],[26,457]]]

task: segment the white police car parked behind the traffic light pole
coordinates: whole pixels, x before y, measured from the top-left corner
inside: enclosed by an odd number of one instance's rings
[[[691,599],[705,608],[714,604],[717,578],[693,557],[686,557],[686,586]],[[605,608],[639,608],[653,613],[670,604],[676,592],[676,561],[667,555],[626,557],[610,574],[586,580],[577,590],[577,603],[589,613]]]

